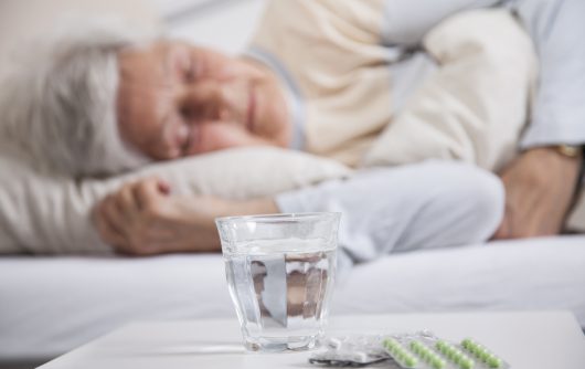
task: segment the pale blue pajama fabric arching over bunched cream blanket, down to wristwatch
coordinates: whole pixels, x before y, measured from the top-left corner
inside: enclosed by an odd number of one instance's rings
[[[539,88],[521,147],[585,144],[585,1],[387,0],[382,42],[417,48],[445,18],[497,6],[517,13],[540,60]]]

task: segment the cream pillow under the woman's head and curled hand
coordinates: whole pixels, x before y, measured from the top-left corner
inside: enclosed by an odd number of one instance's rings
[[[0,156],[0,253],[108,252],[89,220],[94,204],[121,183],[151,175],[181,193],[251,199],[350,173],[332,160],[269,147],[159,162],[104,180],[74,181],[31,167],[22,156]]]

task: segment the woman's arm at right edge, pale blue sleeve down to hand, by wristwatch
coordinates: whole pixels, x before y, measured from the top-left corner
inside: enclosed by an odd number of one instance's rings
[[[521,140],[523,154],[502,172],[507,211],[498,238],[557,234],[583,166],[556,145],[585,144],[585,1],[517,0],[536,46],[540,83]]]

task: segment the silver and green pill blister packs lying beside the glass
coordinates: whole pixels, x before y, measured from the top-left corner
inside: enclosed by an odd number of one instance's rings
[[[509,369],[499,356],[471,338],[450,342],[428,331],[376,336],[331,337],[326,350],[309,362],[330,367],[362,367],[394,361],[403,369]]]

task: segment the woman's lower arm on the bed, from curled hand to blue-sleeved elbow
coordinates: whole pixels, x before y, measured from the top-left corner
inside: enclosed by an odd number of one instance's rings
[[[355,261],[370,261],[488,240],[501,221],[503,192],[487,171],[440,161],[364,171],[279,194],[276,202],[172,196],[153,178],[106,198],[96,225],[108,244],[127,254],[212,252],[220,250],[216,217],[320,211],[342,212],[340,246]]]

